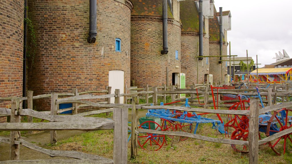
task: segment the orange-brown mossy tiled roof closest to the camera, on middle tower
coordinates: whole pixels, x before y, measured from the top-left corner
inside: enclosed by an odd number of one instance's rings
[[[162,1],[157,0],[131,0],[134,8],[131,15],[145,15],[162,17]],[[174,19],[168,5],[168,18]]]

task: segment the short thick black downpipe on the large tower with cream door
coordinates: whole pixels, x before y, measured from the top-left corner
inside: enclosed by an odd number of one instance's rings
[[[88,43],[95,43],[96,41],[96,6],[97,2],[96,0],[89,0],[89,36],[87,37]]]

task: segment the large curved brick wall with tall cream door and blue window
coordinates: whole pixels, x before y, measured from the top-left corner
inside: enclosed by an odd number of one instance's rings
[[[72,88],[104,90],[109,71],[115,69],[125,71],[125,84],[130,86],[131,10],[127,4],[97,1],[98,34],[94,44],[86,41],[88,0],[31,0],[29,9],[38,45],[35,62],[28,71],[28,89],[34,95],[66,93]],[[121,39],[121,52],[115,51],[116,38]],[[49,104],[47,99],[41,110],[49,109]]]

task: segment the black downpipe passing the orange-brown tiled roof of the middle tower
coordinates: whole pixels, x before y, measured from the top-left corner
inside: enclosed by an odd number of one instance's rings
[[[168,38],[167,38],[167,0],[162,0],[162,33],[163,33],[163,50],[161,55],[168,53]]]

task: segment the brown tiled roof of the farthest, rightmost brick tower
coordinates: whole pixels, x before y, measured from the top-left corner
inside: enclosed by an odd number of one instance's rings
[[[214,5],[214,18],[209,19],[209,35],[210,35],[210,39],[209,41],[220,41],[220,29],[219,29],[219,22],[218,19],[216,17],[216,8]],[[224,38],[223,38],[224,40]]]

